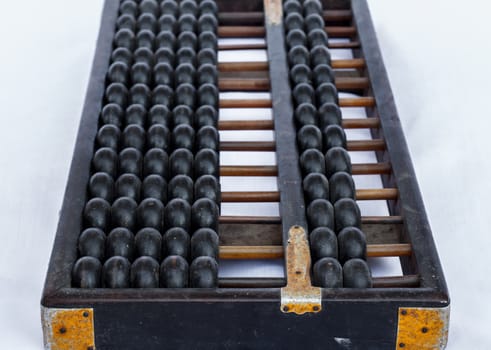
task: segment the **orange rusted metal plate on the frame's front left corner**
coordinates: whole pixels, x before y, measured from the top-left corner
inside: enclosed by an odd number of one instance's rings
[[[41,308],[47,350],[95,350],[93,309]]]

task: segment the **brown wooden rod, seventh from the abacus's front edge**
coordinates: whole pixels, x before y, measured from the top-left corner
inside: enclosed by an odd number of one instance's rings
[[[273,120],[220,120],[220,130],[273,130]],[[343,119],[345,129],[376,129],[380,127],[379,118]]]

